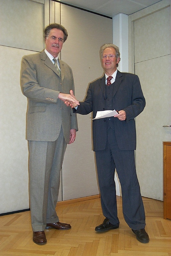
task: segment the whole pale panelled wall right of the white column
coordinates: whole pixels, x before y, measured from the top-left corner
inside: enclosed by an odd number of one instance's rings
[[[142,196],[163,200],[163,141],[171,140],[170,1],[131,15],[135,73],[146,99],[136,118],[136,168]]]

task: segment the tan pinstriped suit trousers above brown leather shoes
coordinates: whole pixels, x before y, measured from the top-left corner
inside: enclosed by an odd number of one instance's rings
[[[62,128],[56,141],[28,141],[29,195],[34,232],[43,231],[46,223],[59,221],[55,208],[66,146]]]

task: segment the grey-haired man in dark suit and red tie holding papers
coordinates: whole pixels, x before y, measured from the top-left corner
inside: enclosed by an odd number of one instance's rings
[[[79,106],[65,101],[73,112],[87,115],[93,111],[116,110],[112,117],[93,120],[93,150],[101,194],[104,222],[95,230],[119,228],[117,216],[115,168],[121,183],[124,219],[141,243],[148,243],[145,212],[135,168],[136,127],[134,118],[145,107],[145,98],[137,75],[117,70],[119,48],[114,44],[101,47],[105,75],[90,83],[84,102]],[[73,95],[71,91],[71,95]]]

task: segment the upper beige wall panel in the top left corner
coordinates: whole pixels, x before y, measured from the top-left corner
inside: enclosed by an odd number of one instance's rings
[[[29,0],[0,0],[0,44],[32,51],[44,47],[44,4]]]

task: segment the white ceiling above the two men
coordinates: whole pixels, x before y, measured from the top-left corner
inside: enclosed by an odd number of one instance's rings
[[[132,14],[161,0],[59,0],[88,11],[114,17],[118,13]]]

